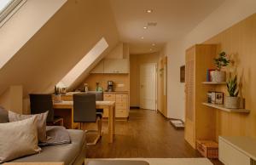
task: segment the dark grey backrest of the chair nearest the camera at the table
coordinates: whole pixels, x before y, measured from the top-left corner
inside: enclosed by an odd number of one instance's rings
[[[96,94],[73,94],[73,121],[96,122]]]

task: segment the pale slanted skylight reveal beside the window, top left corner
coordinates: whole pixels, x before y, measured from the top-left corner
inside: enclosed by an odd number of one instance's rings
[[[67,0],[27,0],[0,28],[0,69],[66,3]]]

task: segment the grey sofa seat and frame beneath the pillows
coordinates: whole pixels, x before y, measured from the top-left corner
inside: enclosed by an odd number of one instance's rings
[[[8,111],[0,107],[0,123],[8,122]],[[42,151],[31,156],[24,156],[11,162],[64,162],[65,165],[79,165],[84,163],[86,140],[82,130],[67,129],[71,144],[49,145],[41,147]]]

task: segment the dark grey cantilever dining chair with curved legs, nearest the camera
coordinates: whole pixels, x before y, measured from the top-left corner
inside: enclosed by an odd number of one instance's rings
[[[102,112],[96,112],[96,94],[74,94],[73,95],[73,122],[79,122],[80,128],[84,122],[96,122],[97,130],[85,130],[85,133],[96,132],[97,137],[92,143],[96,145],[102,137]]]

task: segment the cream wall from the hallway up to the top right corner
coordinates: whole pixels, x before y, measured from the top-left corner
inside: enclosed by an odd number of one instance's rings
[[[255,0],[226,0],[218,9],[179,41],[166,43],[168,55],[168,117],[184,120],[184,84],[179,83],[179,67],[185,64],[185,50],[202,43],[256,12]]]

